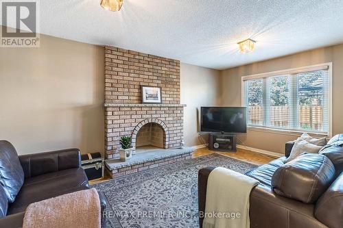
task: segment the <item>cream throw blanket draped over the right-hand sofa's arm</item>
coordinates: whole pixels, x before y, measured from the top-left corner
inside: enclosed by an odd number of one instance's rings
[[[249,197],[258,183],[233,170],[215,168],[207,181],[203,227],[249,228]]]

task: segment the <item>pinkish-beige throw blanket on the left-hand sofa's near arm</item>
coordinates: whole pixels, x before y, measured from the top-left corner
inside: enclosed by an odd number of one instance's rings
[[[30,204],[23,228],[100,228],[100,201],[95,188]]]

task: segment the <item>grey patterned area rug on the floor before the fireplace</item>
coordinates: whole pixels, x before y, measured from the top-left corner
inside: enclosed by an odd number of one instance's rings
[[[255,167],[211,154],[93,185],[108,201],[106,227],[199,227],[198,170],[205,166]]]

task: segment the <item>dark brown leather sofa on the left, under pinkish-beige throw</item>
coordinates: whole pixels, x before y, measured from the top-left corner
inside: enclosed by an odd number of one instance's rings
[[[0,140],[0,153],[7,153],[12,159],[16,155],[12,144],[3,140]],[[89,188],[86,173],[81,168],[79,149],[21,155],[19,161],[25,177],[23,186],[14,202],[8,203],[6,216],[0,218],[0,227],[22,227],[25,209],[30,203]],[[104,211],[106,200],[102,192],[99,198]],[[102,227],[105,227],[105,218],[102,218]]]

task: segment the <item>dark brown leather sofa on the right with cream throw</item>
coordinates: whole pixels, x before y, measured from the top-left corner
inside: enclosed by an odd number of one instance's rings
[[[342,228],[343,227],[343,134],[334,136],[321,151],[319,155],[310,155],[311,160],[299,158],[296,166],[285,164],[286,157],[289,156],[294,142],[287,142],[285,147],[285,157],[280,157],[269,164],[264,164],[248,171],[246,175],[260,181],[250,193],[250,227],[252,228]],[[306,156],[306,155],[300,155]],[[307,156],[309,157],[309,156]],[[324,158],[323,158],[324,157]],[[314,162],[314,163],[312,163]],[[322,162],[319,166],[316,164]],[[281,168],[280,168],[281,167]],[[288,167],[285,175],[293,175],[303,179],[299,182],[284,182],[282,188],[284,192],[291,191],[292,194],[281,196],[276,188],[279,183],[279,171]],[[289,168],[291,167],[291,168]],[[319,167],[319,168],[318,168]],[[327,168],[323,168],[327,167]],[[329,168],[328,168],[329,167]],[[334,168],[333,168],[334,167]],[[207,179],[211,170],[215,167],[206,167],[198,173],[198,199],[199,211],[204,212],[206,202]],[[279,170],[278,170],[279,168]],[[298,170],[297,170],[298,169]],[[300,169],[300,170],[299,170]],[[309,172],[304,172],[309,169]],[[323,171],[323,169],[326,169]],[[278,172],[278,173],[276,173]],[[295,173],[294,173],[295,172]],[[297,173],[298,172],[298,173]],[[318,177],[318,172],[322,179],[326,179],[325,184],[317,184],[318,188],[308,186],[314,185],[308,175],[314,174]],[[274,175],[275,173],[275,175]],[[274,175],[274,181],[273,181]],[[286,179],[288,177],[283,177]],[[328,178],[331,178],[329,180]],[[289,180],[289,179],[288,179]],[[303,190],[312,188],[311,192],[323,193],[316,198],[306,198],[306,203],[302,200]],[[287,189],[285,189],[287,188]],[[276,192],[279,192],[277,194]],[[229,192],[228,192],[229,194]],[[312,197],[315,195],[312,194]],[[202,227],[200,218],[200,227]]]

